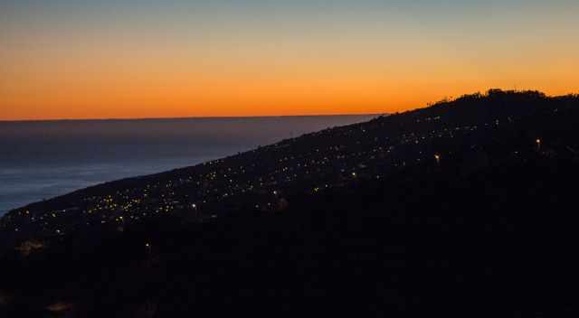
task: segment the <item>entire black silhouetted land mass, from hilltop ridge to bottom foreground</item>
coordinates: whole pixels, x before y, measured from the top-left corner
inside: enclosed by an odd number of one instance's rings
[[[577,136],[578,98],[493,91],[225,159],[293,156],[310,169],[210,211],[179,209],[175,194],[154,217],[47,235],[25,223],[35,205],[15,210],[0,305],[18,317],[576,316]],[[297,166],[257,164],[257,178]],[[43,204],[65,210],[106,191]]]

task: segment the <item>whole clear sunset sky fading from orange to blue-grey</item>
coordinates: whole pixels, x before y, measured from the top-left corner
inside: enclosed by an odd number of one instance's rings
[[[579,92],[576,0],[0,0],[0,119],[384,113]]]

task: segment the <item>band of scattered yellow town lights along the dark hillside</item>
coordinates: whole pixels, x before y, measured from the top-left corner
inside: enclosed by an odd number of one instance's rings
[[[417,120],[418,123],[421,121],[431,123],[441,121],[441,117]],[[319,175],[328,175],[333,178],[328,179],[323,186],[309,188],[317,193],[322,187],[341,186],[348,180],[365,177],[379,179],[384,171],[371,171],[377,166],[375,163],[385,166],[380,169],[400,168],[413,162],[432,161],[433,156],[435,162],[440,164],[442,155],[432,154],[432,150],[429,151],[422,145],[430,145],[428,142],[434,138],[450,140],[458,136],[468,136],[481,127],[492,129],[500,123],[499,119],[481,126],[445,126],[440,123],[438,129],[432,129],[431,123],[429,129],[403,131],[398,136],[374,138],[367,137],[369,129],[338,127],[333,131],[335,136],[353,140],[341,144],[336,142],[340,140],[337,137],[332,139],[335,141],[333,145],[311,147],[307,151],[293,154],[291,151],[297,146],[292,144],[299,143],[299,138],[290,139],[261,147],[259,152],[252,151],[201,164],[175,179],[149,182],[113,194],[87,196],[78,207],[71,209],[82,210],[86,218],[82,224],[123,223],[123,226],[159,213],[176,211],[191,212],[195,217],[213,219],[218,215],[214,211],[219,204],[223,201],[235,202],[240,195],[248,192],[259,194],[261,199],[257,199],[255,207],[265,209],[275,206],[276,202],[282,199],[285,189],[294,182],[310,180],[314,176],[317,178]],[[314,136],[321,136],[320,134]],[[356,139],[356,136],[359,138]],[[541,138],[536,138],[535,142],[540,148]],[[337,173],[338,171],[340,173]],[[42,229],[60,234],[70,231],[59,221],[65,211],[23,210],[18,216],[29,223],[40,224]],[[14,226],[15,231],[21,228]]]

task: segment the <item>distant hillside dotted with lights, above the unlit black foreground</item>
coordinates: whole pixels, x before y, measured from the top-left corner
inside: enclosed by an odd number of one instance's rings
[[[534,145],[541,136],[545,147],[574,152],[579,147],[562,139],[569,137],[565,129],[574,122],[558,127],[548,120],[574,120],[565,113],[574,111],[576,100],[491,90],[486,96],[327,129],[190,168],[105,183],[14,210],[3,218],[0,229],[15,238],[51,237],[95,228],[124,229],[163,214],[206,220],[245,205],[277,210],[285,205],[280,199],[291,193],[380,178],[408,164],[437,160],[436,155],[446,160],[477,147],[480,151],[470,154],[476,157],[471,162],[484,164],[482,157],[489,152],[508,155],[499,153],[502,144]],[[548,139],[548,134],[555,136]]]

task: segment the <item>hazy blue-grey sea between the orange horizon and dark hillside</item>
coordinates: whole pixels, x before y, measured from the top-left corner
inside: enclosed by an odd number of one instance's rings
[[[100,182],[200,164],[372,117],[0,122],[0,216]]]

